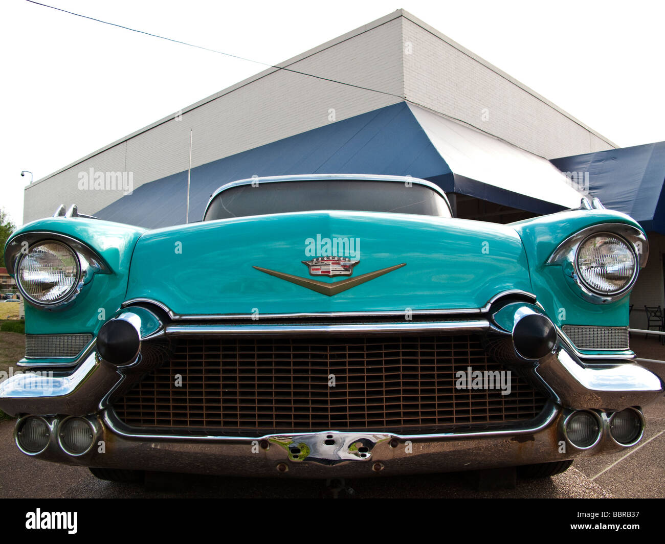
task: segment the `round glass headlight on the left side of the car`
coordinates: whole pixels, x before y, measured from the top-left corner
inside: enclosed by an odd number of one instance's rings
[[[19,287],[27,299],[57,304],[76,289],[78,257],[66,245],[47,241],[33,245],[21,258],[17,270]]]

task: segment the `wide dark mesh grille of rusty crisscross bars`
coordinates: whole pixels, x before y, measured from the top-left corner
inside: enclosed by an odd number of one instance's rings
[[[469,367],[505,370],[468,335],[184,338],[170,362],[114,408],[129,426],[243,436],[466,429],[524,422],[543,410],[545,396],[515,372],[507,395],[457,389],[456,373]]]

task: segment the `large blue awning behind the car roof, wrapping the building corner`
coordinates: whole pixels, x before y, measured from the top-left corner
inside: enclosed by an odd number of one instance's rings
[[[410,175],[535,213],[577,207],[581,198],[547,160],[399,102],[192,168],[190,221],[203,216],[223,184],[289,174]],[[148,228],[178,225],[185,222],[186,192],[185,170],[143,184],[94,215]]]

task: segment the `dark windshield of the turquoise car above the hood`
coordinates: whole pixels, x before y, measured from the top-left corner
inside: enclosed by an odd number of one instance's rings
[[[317,209],[450,217],[444,198],[422,184],[406,186],[399,182],[374,180],[304,180],[231,187],[210,202],[203,221]]]

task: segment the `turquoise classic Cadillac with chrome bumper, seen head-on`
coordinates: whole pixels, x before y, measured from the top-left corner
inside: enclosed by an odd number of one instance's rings
[[[586,199],[500,225],[409,177],[253,178],[176,227],[61,208],[5,255],[15,442],[104,479],[551,476],[663,392],[628,346],[644,231]]]

